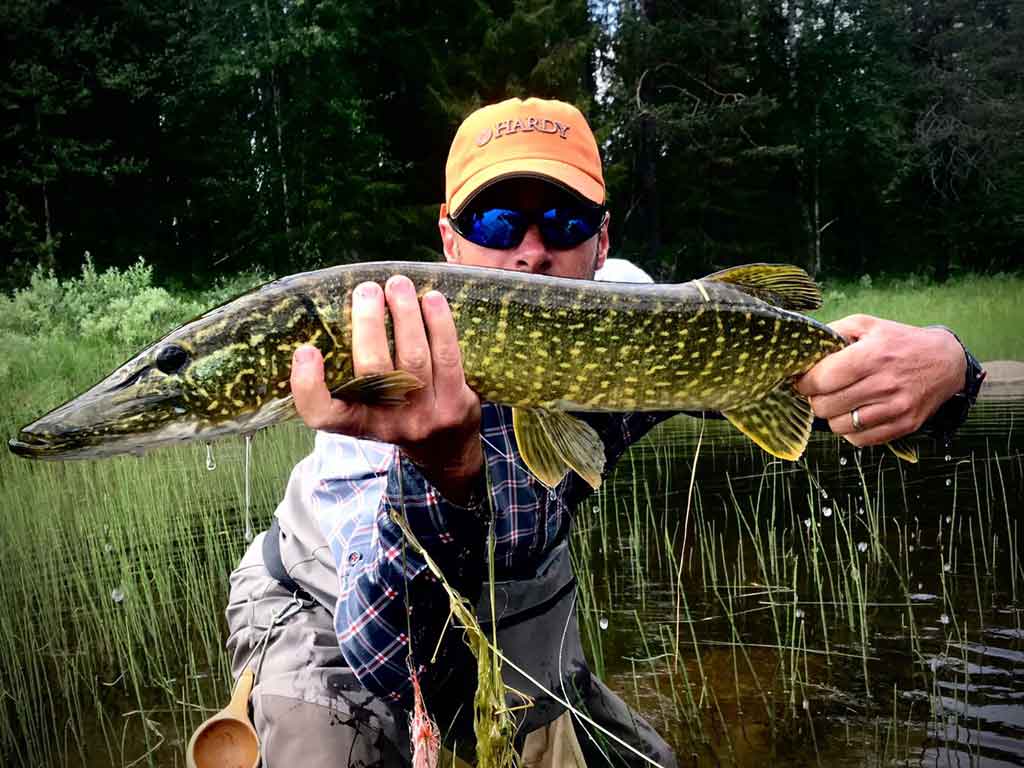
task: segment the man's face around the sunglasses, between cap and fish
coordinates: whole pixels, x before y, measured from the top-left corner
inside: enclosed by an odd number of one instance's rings
[[[480,208],[545,211],[572,202],[574,199],[571,195],[547,181],[509,179],[487,187],[470,205]],[[593,280],[594,272],[604,264],[608,255],[607,221],[593,238],[584,241],[575,248],[563,251],[546,246],[537,224],[530,224],[522,243],[507,251],[483,248],[471,243],[455,231],[447,217],[442,217],[437,225],[441,232],[444,258],[453,264]]]

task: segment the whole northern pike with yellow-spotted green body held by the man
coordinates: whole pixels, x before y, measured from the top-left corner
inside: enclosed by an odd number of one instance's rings
[[[400,404],[421,386],[415,377],[356,378],[351,356],[352,290],[399,273],[421,296],[446,297],[467,383],[513,408],[523,461],[548,485],[570,469],[600,483],[603,446],[571,415],[580,412],[720,411],[768,453],[799,459],[813,414],[794,377],[847,344],[800,313],[818,307],[820,293],[787,265],[678,285],[439,263],[334,266],[268,283],[172,331],[22,429],[10,450],[87,459],[251,434],[295,416],[289,376],[303,344],[324,354],[336,396]]]

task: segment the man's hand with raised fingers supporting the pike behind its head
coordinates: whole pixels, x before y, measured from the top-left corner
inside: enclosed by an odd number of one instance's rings
[[[386,304],[386,306],[385,306]],[[394,359],[385,315],[394,327]],[[402,370],[423,388],[400,407],[366,406],[333,398],[315,347],[296,350],[292,395],[307,426],[398,445],[449,500],[466,501],[483,466],[480,399],[466,384],[459,338],[447,301],[436,291],[417,299],[412,281],[388,280],[352,293],[352,366],[355,376]]]

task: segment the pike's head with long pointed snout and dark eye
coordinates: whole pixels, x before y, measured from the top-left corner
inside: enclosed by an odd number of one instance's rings
[[[171,332],[22,429],[10,450],[61,460],[141,454],[289,418],[292,351],[331,344],[308,301],[274,293],[243,296]]]

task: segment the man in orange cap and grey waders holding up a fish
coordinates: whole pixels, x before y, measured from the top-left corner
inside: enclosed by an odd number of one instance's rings
[[[471,115],[453,141],[445,187],[438,227],[450,262],[582,279],[605,263],[600,157],[568,104],[510,99]],[[855,444],[916,429],[965,387],[965,350],[944,330],[864,316],[836,327],[857,343],[819,364],[800,388]],[[295,354],[292,392],[318,430],[315,449],[293,472],[274,526],[232,573],[227,608],[234,675],[258,668],[252,701],[264,765],[408,764],[410,669],[449,743],[472,754],[476,667],[461,631],[444,631],[447,597],[403,546],[392,510],[404,513],[484,620],[494,525],[499,645],[557,694],[506,665],[510,686],[534,699],[518,713],[516,743],[527,764],[544,755],[556,765],[647,764],[639,754],[675,765],[666,742],[586,667],[567,539],[571,510],[589,487],[570,473],[549,492],[524,469],[509,410],[481,402],[466,384],[444,297],[419,301],[402,276],[383,290],[357,287],[352,349],[357,376],[401,369],[424,387],[399,409],[342,402],[325,386],[319,353]],[[949,419],[963,416],[957,408]],[[585,418],[610,467],[665,415]],[[570,718],[558,698],[617,739]]]

